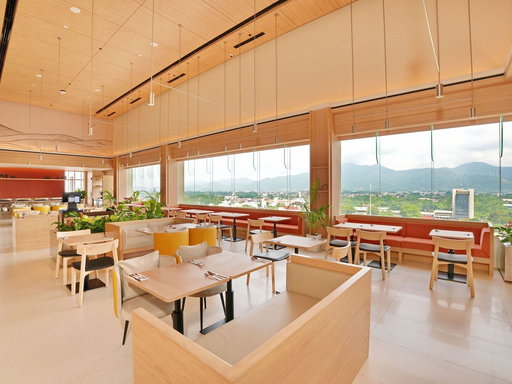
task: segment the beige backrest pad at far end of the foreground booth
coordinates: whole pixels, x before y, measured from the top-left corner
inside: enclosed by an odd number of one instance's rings
[[[286,290],[322,300],[352,277],[349,273],[286,263]]]

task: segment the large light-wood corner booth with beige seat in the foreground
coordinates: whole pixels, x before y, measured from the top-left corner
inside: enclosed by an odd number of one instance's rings
[[[286,290],[195,342],[132,311],[134,383],[349,384],[368,357],[370,301],[368,267],[292,254]]]

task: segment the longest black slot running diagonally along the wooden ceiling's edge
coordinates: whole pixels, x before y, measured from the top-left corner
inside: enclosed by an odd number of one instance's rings
[[[215,44],[216,42],[222,40],[224,37],[226,36],[229,36],[231,33],[233,32],[236,32],[238,31],[240,28],[243,28],[245,25],[251,23],[254,21],[254,18],[258,18],[260,16],[263,16],[264,14],[270,12],[272,9],[274,8],[279,8],[281,7],[283,4],[287,3],[289,0],[276,0],[275,2],[273,2],[272,4],[270,4],[268,7],[265,7],[263,8],[261,11],[257,12],[255,17],[254,15],[252,16],[249,16],[247,17],[245,20],[243,20],[243,22],[241,23],[238,23],[237,25],[229,28],[227,31],[225,32],[222,32],[220,35],[218,35],[217,37],[214,37],[212,38],[211,40],[205,42],[202,46],[196,48],[194,51],[191,51],[189,53],[187,53],[185,56],[181,57],[179,60],[176,60],[175,62],[173,62],[172,64],[168,65],[167,67],[165,67],[164,69],[162,69],[160,72],[157,72],[155,73],[152,77],[153,78],[158,78],[160,75],[163,75],[165,74],[168,70],[176,67],[177,65],[179,65],[180,62],[182,61],[185,61],[186,59],[190,58],[190,57],[193,57],[195,56],[196,54],[198,54],[199,52],[201,52],[203,49],[209,47],[210,45],[212,44]],[[132,88],[131,90],[125,92],[123,95],[119,96],[117,99],[115,100],[112,100],[110,103],[106,104],[105,106],[103,106],[103,108],[101,108],[100,110],[96,111],[96,113],[100,113],[101,111],[103,110],[106,110],[107,108],[109,108],[110,106],[114,105],[115,103],[117,103],[118,101],[124,99],[126,96],[130,95],[130,93],[132,93],[133,91],[139,89],[140,87],[142,87],[144,84],[147,84],[148,82],[151,81],[151,77],[148,77],[147,79],[145,79],[144,81],[142,81],[140,84],[137,84],[134,88]]]

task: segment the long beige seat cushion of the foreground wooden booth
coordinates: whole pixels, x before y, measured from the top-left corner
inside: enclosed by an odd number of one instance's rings
[[[195,342],[235,365],[316,303],[314,298],[284,291]]]

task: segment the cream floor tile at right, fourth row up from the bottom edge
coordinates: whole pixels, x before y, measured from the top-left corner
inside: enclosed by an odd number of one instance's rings
[[[417,287],[406,283],[400,288],[396,297],[508,322],[503,303],[471,297],[469,292],[467,296],[459,296],[429,289],[428,286]]]

